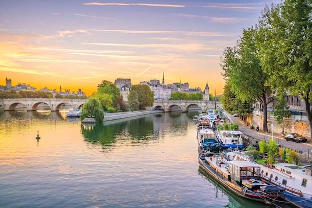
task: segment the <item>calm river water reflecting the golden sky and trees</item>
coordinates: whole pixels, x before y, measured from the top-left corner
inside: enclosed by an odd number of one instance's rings
[[[0,207],[269,208],[202,175],[195,114],[85,126],[66,111],[1,110]]]

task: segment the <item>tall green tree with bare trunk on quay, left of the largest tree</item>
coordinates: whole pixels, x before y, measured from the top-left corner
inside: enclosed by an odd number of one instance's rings
[[[269,75],[263,70],[258,56],[257,41],[260,41],[257,26],[243,30],[243,36],[237,46],[227,47],[220,66],[225,80],[231,85],[231,91],[242,102],[257,100],[263,109],[263,131],[268,132],[267,104],[272,94],[268,85]]]

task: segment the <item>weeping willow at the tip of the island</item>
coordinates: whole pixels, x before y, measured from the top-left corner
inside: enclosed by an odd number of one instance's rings
[[[104,110],[101,108],[101,103],[98,98],[90,98],[81,107],[80,120],[88,116],[94,116],[98,123],[102,123],[104,119]]]

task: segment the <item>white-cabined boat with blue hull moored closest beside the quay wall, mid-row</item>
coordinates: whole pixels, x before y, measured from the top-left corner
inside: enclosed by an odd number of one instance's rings
[[[216,131],[216,136],[220,143],[221,150],[241,150],[245,148],[243,144],[244,134],[241,131],[221,130]]]

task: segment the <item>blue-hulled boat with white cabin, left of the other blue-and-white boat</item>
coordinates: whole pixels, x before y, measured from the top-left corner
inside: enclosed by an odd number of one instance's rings
[[[217,141],[216,134],[210,128],[199,129],[197,131],[198,149],[211,152],[220,152],[220,144]]]

